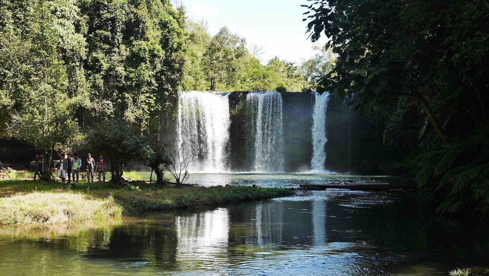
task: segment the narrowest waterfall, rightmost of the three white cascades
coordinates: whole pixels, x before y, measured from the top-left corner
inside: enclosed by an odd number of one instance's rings
[[[312,112],[312,158],[311,170],[324,171],[326,162],[326,111],[330,94],[314,93],[314,108]]]

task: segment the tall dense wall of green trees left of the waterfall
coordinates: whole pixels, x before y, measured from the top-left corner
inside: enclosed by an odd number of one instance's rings
[[[0,15],[0,136],[42,150],[46,178],[55,150],[82,144],[114,151],[120,176],[133,160],[127,150],[137,150],[120,139],[159,137],[177,101],[183,9],[169,0],[21,0],[0,2]]]

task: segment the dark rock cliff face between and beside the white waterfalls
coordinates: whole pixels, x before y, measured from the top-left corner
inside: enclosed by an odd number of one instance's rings
[[[227,94],[229,104],[229,139],[225,145],[226,167],[231,171],[253,171],[256,131],[256,114],[250,115],[250,101],[247,95],[253,92],[231,92]],[[314,94],[311,92],[281,92],[283,124],[282,139],[267,141],[271,143],[272,154],[281,149],[283,171],[303,172],[311,169],[312,124]],[[326,166],[334,172],[385,173],[389,164],[401,161],[399,149],[382,143],[382,129],[385,121],[375,117],[361,117],[350,99],[330,95],[326,113]],[[256,112],[256,111],[255,111]],[[175,139],[177,118],[162,121],[161,139]],[[267,135],[267,133],[264,133]],[[276,143],[282,143],[279,147]],[[34,159],[36,149],[16,140],[0,140],[0,161],[15,163],[25,168]],[[86,153],[84,150],[80,154]],[[267,155],[265,155],[267,156]],[[273,158],[277,158],[275,155]],[[270,157],[270,162],[272,157]],[[137,168],[134,168],[137,169]]]

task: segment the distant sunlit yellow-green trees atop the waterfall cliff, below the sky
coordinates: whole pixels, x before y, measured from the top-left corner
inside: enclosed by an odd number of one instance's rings
[[[256,56],[261,49],[247,46],[246,40],[227,27],[211,36],[204,22],[187,21],[185,32],[186,64],[184,91],[283,91],[299,92],[310,88],[314,68],[330,63],[322,50],[301,65],[274,57],[263,65]]]

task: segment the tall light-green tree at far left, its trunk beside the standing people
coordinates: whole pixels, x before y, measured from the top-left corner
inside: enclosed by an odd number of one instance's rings
[[[2,119],[10,135],[42,150],[42,178],[49,180],[53,151],[78,134],[73,110],[84,104],[79,62],[85,42],[71,13],[78,9],[70,1],[42,0],[0,9],[7,19],[0,27]]]

